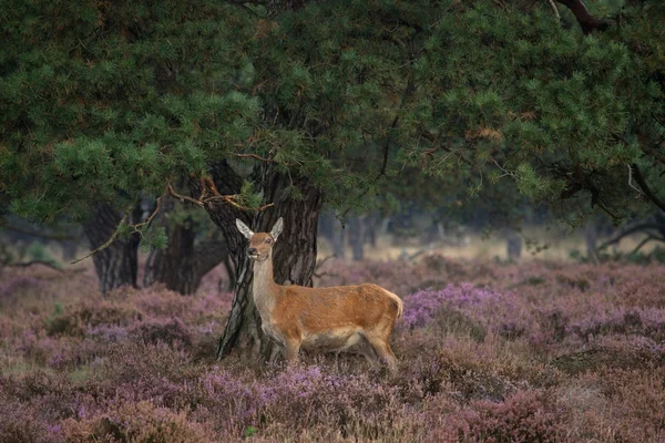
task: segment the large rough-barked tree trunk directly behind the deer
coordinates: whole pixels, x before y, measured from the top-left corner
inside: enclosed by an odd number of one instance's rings
[[[272,351],[269,340],[263,339],[260,317],[252,296],[253,269],[246,253],[247,239],[237,230],[236,218],[242,219],[256,233],[267,233],[279,217],[284,217],[284,230],[273,253],[275,281],[283,285],[313,285],[311,274],[316,264],[316,236],[321,207],[320,193],[308,179],[295,176],[293,185],[301,195],[300,198],[293,198],[288,193],[290,178],[276,172],[272,164],[264,163],[256,172],[255,181],[259,183],[258,190],[263,192],[264,203],[272,203],[274,206],[249,214],[222,199],[212,199],[205,207],[213,222],[219,226],[236,269],[233,306],[219,340],[217,358],[226,356],[233,349],[239,349],[266,359]],[[238,194],[242,178],[226,162],[214,165],[211,173],[216,188],[202,189],[202,184],[193,181],[190,183],[193,195],[200,196],[202,190],[213,195]]]

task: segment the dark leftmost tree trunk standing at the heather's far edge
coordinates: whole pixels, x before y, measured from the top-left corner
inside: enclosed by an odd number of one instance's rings
[[[117,229],[121,219],[122,215],[113,206],[95,205],[91,218],[83,224],[91,249],[102,246]],[[92,256],[102,293],[125,285],[136,287],[137,251],[139,236],[132,235]]]

